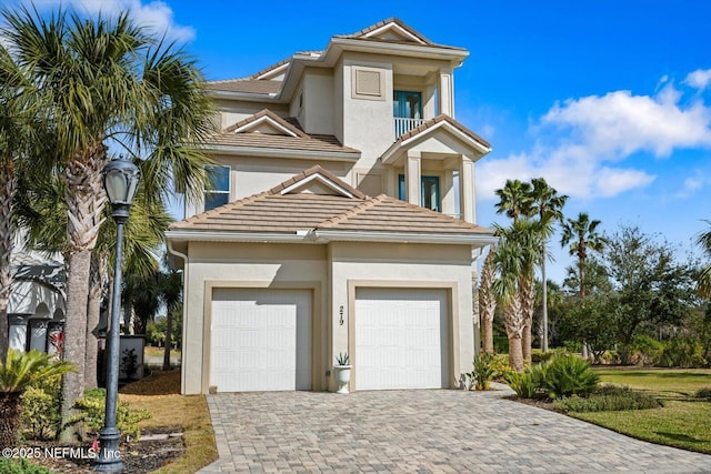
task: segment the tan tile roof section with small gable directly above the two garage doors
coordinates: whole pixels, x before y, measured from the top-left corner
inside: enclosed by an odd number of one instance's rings
[[[281,192],[307,178],[320,174],[353,196]],[[370,198],[314,167],[269,191],[231,202],[184,221],[170,230],[289,233],[298,231],[354,231],[445,235],[492,235],[493,232],[439,212],[381,194]]]

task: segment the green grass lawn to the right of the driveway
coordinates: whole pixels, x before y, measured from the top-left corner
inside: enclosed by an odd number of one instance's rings
[[[711,387],[711,370],[602,369],[603,383],[627,385],[655,395],[664,406],[625,412],[571,413],[580,420],[640,440],[711,454],[711,402],[694,399]]]

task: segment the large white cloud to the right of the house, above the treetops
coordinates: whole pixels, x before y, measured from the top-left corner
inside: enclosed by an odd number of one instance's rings
[[[555,103],[531,128],[531,150],[478,164],[478,196],[494,199],[507,179],[535,177],[582,199],[650,185],[657,177],[644,169],[642,154],[667,158],[679,149],[711,148],[711,108],[682,104],[681,92],[665,82],[654,95],[615,91]]]

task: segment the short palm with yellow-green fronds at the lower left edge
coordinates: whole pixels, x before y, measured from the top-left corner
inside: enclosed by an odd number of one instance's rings
[[[0,363],[0,448],[18,445],[22,393],[40,380],[72,370],[73,364],[53,361],[51,355],[42,352],[8,351],[4,363]]]

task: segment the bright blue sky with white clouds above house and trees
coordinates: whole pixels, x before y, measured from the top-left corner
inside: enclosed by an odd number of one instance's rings
[[[493,145],[477,168],[480,224],[505,222],[493,190],[507,178],[537,177],[570,195],[567,215],[588,212],[607,231],[639,225],[679,244],[680,255],[711,219],[709,1],[63,4],[131,10],[184,43],[208,79],[249,75],[323,49],[332,34],[398,17],[470,51],[455,73],[455,112]],[[572,260],[563,251],[555,259],[550,278],[561,281]]]

